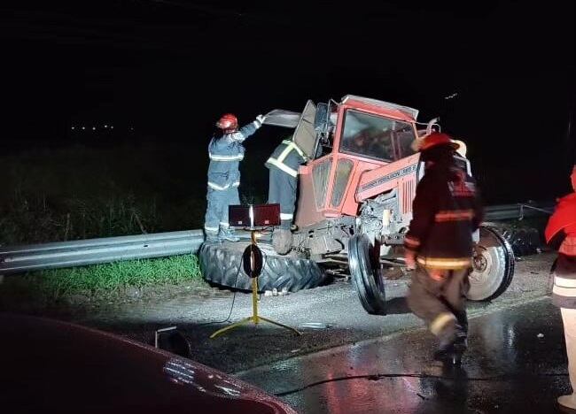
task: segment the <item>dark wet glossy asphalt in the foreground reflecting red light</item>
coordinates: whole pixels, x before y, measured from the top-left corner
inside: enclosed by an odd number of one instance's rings
[[[471,319],[461,369],[433,363],[435,345],[420,329],[238,376],[306,413],[548,413],[570,390],[549,298]]]

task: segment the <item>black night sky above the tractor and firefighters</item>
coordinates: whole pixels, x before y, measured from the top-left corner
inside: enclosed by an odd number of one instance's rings
[[[114,123],[135,144],[183,142],[204,156],[222,112],[242,123],[354,94],[440,116],[477,165],[564,177],[573,2],[427,4],[4,2],[0,148],[66,144],[71,126]],[[249,151],[285,134],[264,129]]]

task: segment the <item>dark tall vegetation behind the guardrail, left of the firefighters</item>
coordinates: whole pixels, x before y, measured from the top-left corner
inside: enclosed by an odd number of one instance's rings
[[[0,157],[0,244],[196,228],[204,210],[182,151],[73,146]],[[204,187],[204,186],[203,186]]]

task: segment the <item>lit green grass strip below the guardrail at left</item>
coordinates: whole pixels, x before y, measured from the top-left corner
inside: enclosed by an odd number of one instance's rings
[[[29,272],[6,277],[0,298],[33,298],[38,304],[62,300],[97,302],[154,287],[175,287],[201,280],[198,257],[193,255],[129,260],[110,264]]]

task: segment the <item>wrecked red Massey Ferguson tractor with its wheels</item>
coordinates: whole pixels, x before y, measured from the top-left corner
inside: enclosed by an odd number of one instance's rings
[[[295,127],[292,140],[308,158],[300,166],[300,195],[292,251],[277,255],[267,243],[261,290],[314,288],[349,272],[362,306],[385,314],[385,279],[403,272],[403,239],[412,218],[416,184],[424,174],[416,137],[436,126],[416,122],[418,111],[361,96],[339,103],[308,101],[301,114],[272,111],[266,123]],[[418,129],[418,126],[424,126]],[[468,173],[465,154],[456,162]],[[492,226],[475,235],[469,299],[487,301],[508,288],[514,274],[510,244]],[[245,243],[205,245],[200,265],[207,280],[249,289],[238,272]]]

